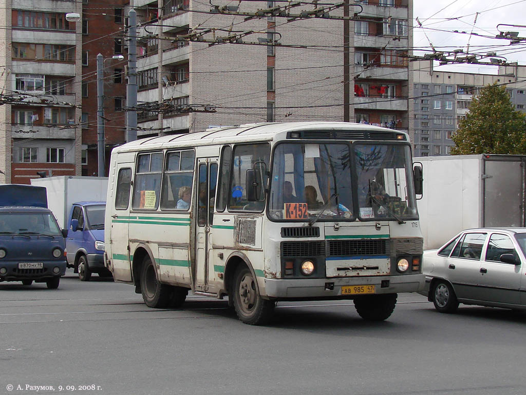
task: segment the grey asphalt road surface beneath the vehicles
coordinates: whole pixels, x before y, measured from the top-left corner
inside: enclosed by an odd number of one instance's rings
[[[0,394],[526,393],[526,313],[440,314],[400,294],[384,322],[349,301],[280,302],[252,327],[226,301],[149,309],[131,285],[93,280],[0,283]]]

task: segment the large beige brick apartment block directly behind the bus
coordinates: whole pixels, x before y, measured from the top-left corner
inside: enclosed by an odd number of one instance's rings
[[[411,77],[406,56],[412,46],[408,29],[412,0],[361,1],[350,7],[356,18],[347,22],[210,13],[214,7],[232,4],[130,1],[141,24],[139,138],[211,125],[313,120],[409,130]],[[253,13],[285,3],[236,5],[229,11]],[[309,9],[313,5],[304,4],[288,12]],[[341,16],[343,10],[330,15]],[[348,62],[344,62],[346,28]],[[236,34],[239,38],[234,41],[245,44],[219,44]],[[193,41],[180,40],[188,35]],[[199,37],[206,42],[199,42]],[[272,41],[278,45],[248,45]]]

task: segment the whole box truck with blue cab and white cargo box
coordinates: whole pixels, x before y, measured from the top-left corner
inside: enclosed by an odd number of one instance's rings
[[[58,223],[68,231],[66,258],[80,280],[92,273],[109,276],[104,266],[104,213],[107,177],[56,176],[31,180],[45,186],[48,206]]]

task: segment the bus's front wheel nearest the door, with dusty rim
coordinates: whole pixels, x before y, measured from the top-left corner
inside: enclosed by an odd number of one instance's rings
[[[261,298],[256,279],[245,265],[234,276],[234,308],[239,320],[250,325],[264,325],[274,314],[274,301]]]

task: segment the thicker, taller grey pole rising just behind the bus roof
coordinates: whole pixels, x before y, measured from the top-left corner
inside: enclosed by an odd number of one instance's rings
[[[128,83],[126,85],[126,142],[137,140],[137,13],[129,12]]]

